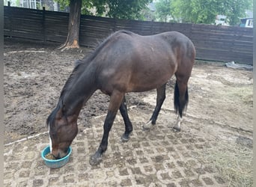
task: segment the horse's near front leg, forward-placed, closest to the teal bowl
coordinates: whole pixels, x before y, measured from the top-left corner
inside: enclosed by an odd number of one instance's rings
[[[110,96],[108,114],[104,122],[103,138],[100,143],[100,147],[98,148],[96,153],[94,153],[94,155],[91,156],[91,159],[90,159],[91,165],[98,165],[101,162],[102,154],[107,150],[108,140],[109,140],[109,131],[112,128],[113,122],[115,120],[115,116],[118,112],[119,106],[121,105],[123,97],[124,97],[124,93],[120,93],[118,91],[113,92],[112,95]]]

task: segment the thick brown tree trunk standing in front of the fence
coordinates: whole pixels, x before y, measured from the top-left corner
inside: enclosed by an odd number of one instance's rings
[[[61,51],[70,48],[79,48],[79,28],[82,0],[70,0],[70,17],[66,42],[59,47]]]

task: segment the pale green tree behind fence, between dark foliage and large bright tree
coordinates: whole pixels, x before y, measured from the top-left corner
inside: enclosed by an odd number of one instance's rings
[[[161,22],[167,22],[169,16],[171,16],[171,0],[159,0],[156,1],[156,18]]]

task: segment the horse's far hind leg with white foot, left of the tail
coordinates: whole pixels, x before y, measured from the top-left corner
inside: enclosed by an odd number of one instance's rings
[[[156,119],[158,117],[159,111],[161,110],[162,103],[165,101],[165,85],[162,85],[159,88],[156,88],[156,108],[153,111],[150,121],[143,125],[143,129],[150,129],[150,126],[156,124]]]

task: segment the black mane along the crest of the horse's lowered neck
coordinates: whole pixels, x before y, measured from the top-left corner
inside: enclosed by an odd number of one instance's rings
[[[131,31],[125,31],[125,30],[121,30],[121,31],[112,33],[109,35],[109,37],[106,37],[106,39],[103,40],[102,43],[98,44],[98,46],[94,49],[93,52],[89,53],[89,55],[85,55],[85,57],[82,58],[81,60],[75,61],[75,67],[74,67],[72,73],[70,74],[69,78],[67,79],[67,82],[65,83],[64,87],[62,88],[61,95],[58,99],[58,104],[57,104],[56,108],[52,111],[52,113],[49,114],[49,117],[46,120],[47,126],[52,126],[52,124],[54,123],[55,115],[57,114],[59,109],[62,108],[63,114],[65,114],[65,111],[63,108],[64,96],[67,93],[67,91],[70,91],[70,88],[72,88],[73,82],[76,82],[76,80],[79,79],[79,76],[81,75],[83,70],[85,70],[85,68],[89,64],[91,64],[91,61],[94,60],[94,58],[99,54],[101,49],[103,49],[103,47],[106,46],[106,44],[109,43],[110,40],[112,40],[112,36],[116,35],[116,34],[120,34],[120,33],[121,34],[129,34],[129,35],[133,34]]]

